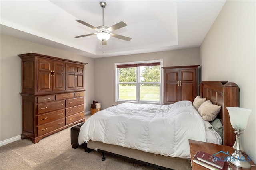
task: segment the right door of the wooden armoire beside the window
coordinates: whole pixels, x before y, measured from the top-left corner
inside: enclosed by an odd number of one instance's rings
[[[196,97],[196,70],[180,70],[180,100],[193,101]]]

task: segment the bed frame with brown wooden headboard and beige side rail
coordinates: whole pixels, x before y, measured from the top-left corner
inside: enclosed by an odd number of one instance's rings
[[[226,107],[239,107],[238,85],[228,81],[202,81],[200,83],[200,97],[211,100],[213,104],[222,106],[218,118],[223,124],[223,145],[232,146],[235,141],[235,135]],[[105,160],[104,153],[108,153],[160,169],[191,169],[190,158],[163,156],[90,140],[87,143],[86,151],[89,152],[91,149],[102,152],[102,160]]]

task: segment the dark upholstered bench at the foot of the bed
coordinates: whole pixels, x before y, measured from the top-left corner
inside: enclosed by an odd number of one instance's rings
[[[70,133],[71,134],[70,135],[71,136],[71,145],[72,145],[72,148],[74,148],[74,149],[76,149],[78,147],[82,147],[82,148],[84,148],[85,152],[90,152],[90,151],[92,151],[92,149],[87,148],[86,143],[83,143],[82,145],[79,145],[79,143],[78,143],[79,131],[80,131],[80,128],[83,124],[84,123],[81,123],[81,124],[76,125],[76,126],[74,126],[70,129],[70,131],[71,131],[71,133]]]

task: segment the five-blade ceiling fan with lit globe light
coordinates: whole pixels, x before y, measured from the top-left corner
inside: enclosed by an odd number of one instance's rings
[[[122,27],[127,26],[126,23],[124,23],[123,21],[111,26],[111,27],[107,27],[104,26],[104,8],[107,6],[106,2],[100,2],[100,6],[102,7],[102,26],[98,26],[97,28],[84,22],[81,20],[76,20],[79,23],[82,23],[83,25],[86,25],[87,27],[90,27],[94,30],[97,31],[97,33],[91,33],[91,34],[86,34],[86,35],[79,35],[76,36],[74,38],[80,38],[80,37],[86,37],[86,36],[90,36],[90,35],[97,35],[98,39],[101,41],[101,45],[106,45],[107,44],[107,40],[111,37],[115,37],[115,38],[119,38],[125,41],[130,41],[131,38],[129,37],[125,37],[122,35],[118,35],[118,34],[114,34],[112,33],[112,31],[115,31],[116,29],[120,29]]]

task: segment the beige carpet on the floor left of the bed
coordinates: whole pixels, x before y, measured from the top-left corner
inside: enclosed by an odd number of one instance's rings
[[[71,128],[71,127],[70,127]],[[157,170],[123,158],[83,149],[73,149],[70,128],[54,133],[33,144],[20,139],[0,148],[1,170]]]

